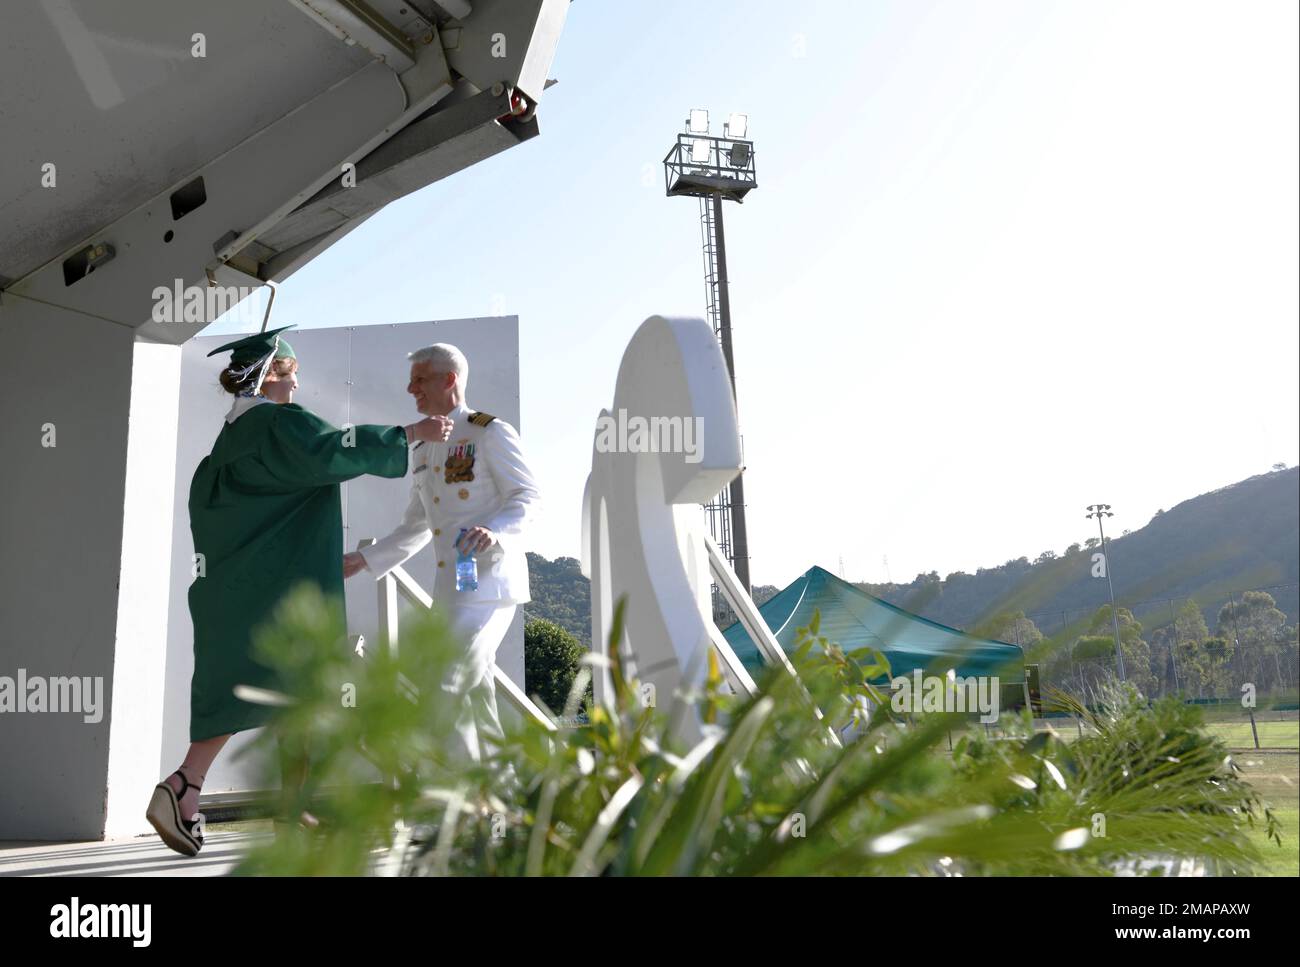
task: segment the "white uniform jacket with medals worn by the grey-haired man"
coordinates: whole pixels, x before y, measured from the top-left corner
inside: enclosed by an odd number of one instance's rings
[[[376,580],[433,541],[437,577],[433,597],[445,604],[524,604],[528,559],[521,543],[536,519],[541,495],[519,433],[488,413],[459,406],[446,443],[411,451],[411,503],[402,524],[382,541],[363,547]],[[462,528],[484,526],[495,543],[476,554],[478,590],[456,591],[455,541]]]

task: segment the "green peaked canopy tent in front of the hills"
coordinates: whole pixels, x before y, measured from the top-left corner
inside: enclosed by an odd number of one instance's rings
[[[1001,684],[1024,681],[1024,652],[1015,645],[979,638],[937,621],[913,615],[812,567],[789,587],[759,606],[759,613],[786,652],[794,650],[796,632],[820,612],[819,634],[845,651],[874,647],[889,659],[894,677],[920,669],[959,677],[998,676]],[[763,667],[758,646],[737,621],[723,632],[736,656],[751,675]]]

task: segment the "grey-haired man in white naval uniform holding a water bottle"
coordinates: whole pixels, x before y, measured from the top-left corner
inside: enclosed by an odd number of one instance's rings
[[[510,424],[465,406],[469,364],[455,346],[436,343],[410,354],[407,393],[424,416],[450,424],[445,443],[411,454],[411,504],[384,539],[343,555],[343,574],[367,569],[376,580],[430,541],[437,555],[433,599],[465,642],[465,656],[447,688],[465,702],[458,721],[464,755],[482,756],[484,738],[502,734],[491,668],[515,611],[526,604],[528,559],[523,534],[536,517],[537,482]],[[456,538],[478,563],[477,590],[456,590]]]

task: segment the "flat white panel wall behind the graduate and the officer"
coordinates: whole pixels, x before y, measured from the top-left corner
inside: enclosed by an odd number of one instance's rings
[[[282,311],[285,307],[280,308]],[[291,321],[277,315],[273,325],[287,325]],[[434,342],[455,343],[469,359],[469,406],[517,426],[525,452],[528,451],[530,437],[528,426],[520,425],[519,412],[519,320],[515,316],[290,330],[286,335],[299,361],[300,390],[294,402],[335,426],[343,422],[404,424],[416,419],[417,413],[406,393],[410,373],[406,354]],[[185,346],[176,461],[164,738],[161,756],[156,763],[159,775],[172,772],[188,745],[194,629],[186,590],[191,582],[194,542],[186,502],[194,469],[211,450],[230,407],[229,394],[217,383],[225,356],[207,359],[205,354],[231,338],[200,337]],[[387,534],[406,509],[410,489],[410,476],[402,480],[360,477],[344,485],[344,547],[352,550],[364,537]],[[428,548],[420,551],[406,568],[424,587],[433,586],[437,567]],[[378,608],[373,580],[358,576],[347,581],[344,587],[348,630],[364,634],[367,641],[377,641]],[[521,616],[516,617],[515,626],[498,652],[497,663],[523,686]],[[208,772],[204,794],[256,789],[261,784],[251,758],[235,759],[235,753],[251,742],[255,734],[240,733],[226,745]]]

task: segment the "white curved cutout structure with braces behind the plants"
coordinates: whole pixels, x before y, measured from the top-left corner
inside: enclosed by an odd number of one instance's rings
[[[654,452],[634,443],[621,446],[632,443],[632,434],[619,438],[620,446],[607,446],[618,434],[602,428],[638,419],[659,428],[693,421],[694,448]],[[614,408],[602,411],[597,424],[582,500],[582,569],[592,580],[592,647],[608,656],[614,607],[625,597],[621,654],[628,673],[654,686],[655,703],[670,707],[675,730],[685,740],[698,736],[699,723],[677,699],[705,682],[710,649],[733,688],[754,688],[712,623],[712,581],[760,642],[764,660],[789,667],[703,529],[699,504],[740,469],[736,404],[712,329],[701,318],[647,318],[623,354]],[[608,671],[602,669],[595,676],[597,701],[608,702],[611,691]]]

